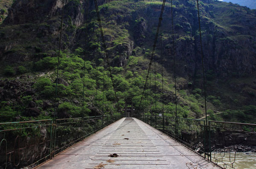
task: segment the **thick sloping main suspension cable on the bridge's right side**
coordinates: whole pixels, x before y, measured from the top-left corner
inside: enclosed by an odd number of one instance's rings
[[[163,5],[162,5],[160,17],[159,17],[159,22],[158,22],[158,26],[157,26],[156,36],[155,36],[155,39],[154,39],[154,45],[153,45],[153,49],[152,49],[152,53],[151,53],[151,58],[150,58],[150,62],[149,62],[149,65],[148,65],[148,73],[147,73],[147,76],[146,76],[146,80],[145,80],[142,96],[141,96],[141,99],[140,99],[139,107],[141,106],[143,95],[144,95],[144,92],[145,92],[145,89],[146,89],[146,84],[148,82],[148,75],[149,75],[151,64],[152,64],[152,60],[153,60],[153,57],[154,57],[154,52],[155,52],[155,48],[156,48],[156,44],[157,44],[157,37],[158,37],[158,34],[159,34],[159,29],[160,29],[160,25],[161,25],[161,21],[162,21],[162,17],[163,17],[163,10],[164,10],[165,3],[166,3],[166,0],[163,0]]]

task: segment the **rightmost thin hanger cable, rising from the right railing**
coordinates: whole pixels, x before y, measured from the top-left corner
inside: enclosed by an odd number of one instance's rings
[[[206,124],[207,124],[206,87],[205,87],[205,74],[204,74],[204,54],[203,54],[202,35],[201,35],[201,23],[200,23],[200,14],[199,14],[198,0],[197,0],[197,8],[198,8],[198,23],[199,23],[200,45],[201,45],[202,69],[203,69],[203,79],[204,79],[205,120],[206,120]]]

